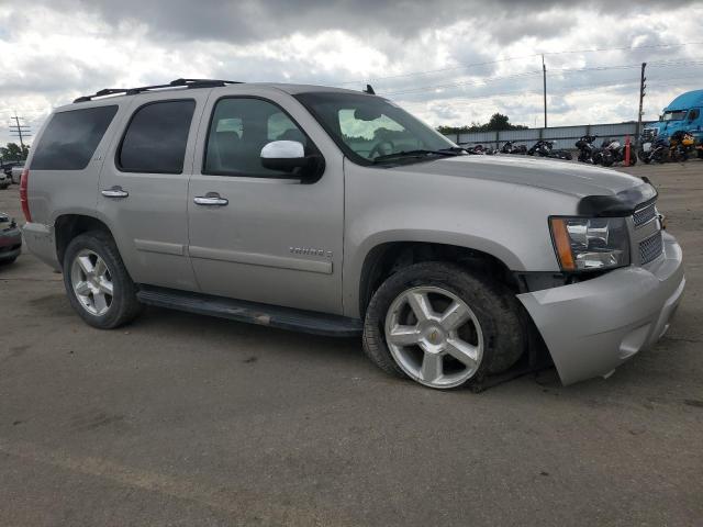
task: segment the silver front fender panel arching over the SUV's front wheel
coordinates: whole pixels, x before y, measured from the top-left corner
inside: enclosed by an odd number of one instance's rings
[[[343,302],[360,316],[367,256],[393,242],[480,250],[513,271],[559,272],[548,217],[574,214],[573,195],[528,186],[345,164]]]

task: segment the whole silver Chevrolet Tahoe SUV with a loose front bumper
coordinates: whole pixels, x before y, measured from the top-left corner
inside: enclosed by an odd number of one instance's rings
[[[29,249],[90,325],[141,304],[362,335],[391,374],[480,385],[548,351],[565,384],[669,327],[657,192],[470,156],[369,92],[179,79],[59,108],[21,182]]]

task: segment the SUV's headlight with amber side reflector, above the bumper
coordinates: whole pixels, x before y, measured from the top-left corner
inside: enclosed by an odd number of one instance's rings
[[[550,217],[549,227],[563,271],[629,265],[629,236],[624,217]]]

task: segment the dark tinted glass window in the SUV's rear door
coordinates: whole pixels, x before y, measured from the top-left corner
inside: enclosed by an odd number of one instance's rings
[[[154,102],[140,108],[124,133],[120,169],[181,173],[196,101]]]

